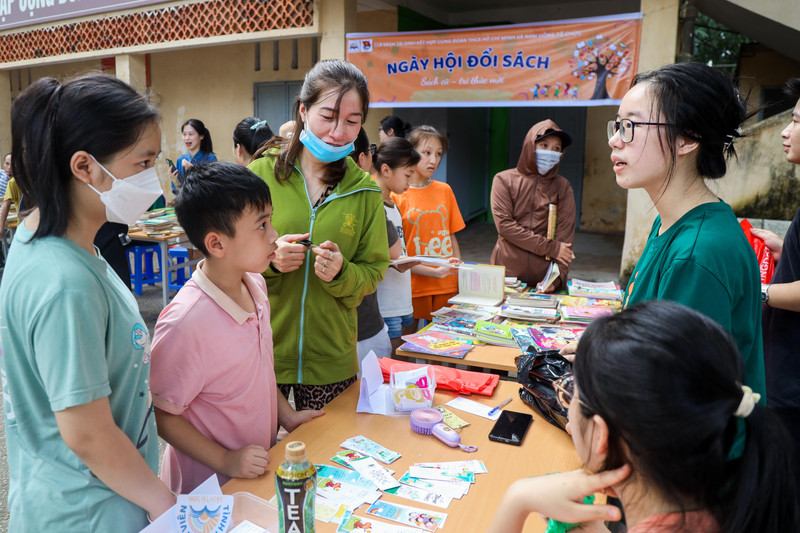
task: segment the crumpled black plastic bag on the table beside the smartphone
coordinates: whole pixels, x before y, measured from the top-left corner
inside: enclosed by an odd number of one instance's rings
[[[558,401],[553,382],[572,374],[572,364],[558,354],[522,354],[517,357],[519,397],[545,420],[566,431],[567,411]]]

